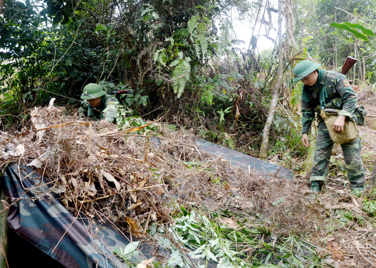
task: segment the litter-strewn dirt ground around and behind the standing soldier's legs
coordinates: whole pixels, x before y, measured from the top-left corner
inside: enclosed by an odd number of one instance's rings
[[[354,90],[358,93],[358,104],[364,105],[367,110],[367,119],[364,126],[359,126],[359,135],[368,182],[376,157],[376,94],[367,87],[359,89],[359,86],[354,86]],[[300,176],[295,173],[295,178],[304,181],[309,188],[309,174]],[[326,261],[334,267],[376,267],[374,200],[375,193],[368,199],[351,194],[341,146],[335,145],[326,183],[317,196],[317,202],[325,208],[326,215],[317,232],[310,234],[312,241],[330,252]]]

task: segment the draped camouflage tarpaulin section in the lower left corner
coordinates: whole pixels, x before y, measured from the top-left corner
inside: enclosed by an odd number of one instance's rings
[[[1,180],[12,203],[9,227],[35,247],[70,268],[124,267],[113,250],[129,244],[129,234],[124,237],[112,226],[93,223],[82,213],[71,215],[49,191],[49,181],[30,167],[12,164]],[[132,236],[132,241],[136,240]],[[142,254],[138,257],[150,258],[149,248],[140,244]]]

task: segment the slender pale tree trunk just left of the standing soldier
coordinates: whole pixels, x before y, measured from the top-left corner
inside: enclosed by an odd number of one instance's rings
[[[266,160],[268,157],[268,144],[269,144],[269,131],[271,127],[271,123],[273,122],[274,112],[276,110],[277,100],[278,100],[278,92],[279,88],[282,84],[282,73],[283,73],[283,65],[282,65],[282,4],[278,1],[278,77],[277,82],[274,85],[273,89],[273,96],[271,98],[270,103],[270,110],[268,114],[268,119],[266,120],[264,131],[262,133],[262,143],[260,148],[260,158],[262,160]]]

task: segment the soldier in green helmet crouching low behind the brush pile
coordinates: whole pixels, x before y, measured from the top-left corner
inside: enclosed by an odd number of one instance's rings
[[[112,123],[118,113],[119,101],[114,94],[108,94],[98,84],[87,84],[81,94],[80,118],[88,117],[101,123]]]

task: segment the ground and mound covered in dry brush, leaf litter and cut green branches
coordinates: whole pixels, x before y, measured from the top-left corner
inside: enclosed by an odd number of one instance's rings
[[[368,181],[376,155],[376,94],[363,89],[358,96],[369,115],[359,127]],[[164,247],[177,252],[183,243],[167,235],[172,230],[192,250],[179,256],[206,256],[221,267],[376,267],[376,196],[350,192],[340,146],[316,195],[308,174],[288,180],[245,172],[197,148],[190,131],[164,123],[130,119],[119,131],[97,122],[88,127],[63,107],[30,114],[34,128],[0,132],[0,167],[48,152],[36,167],[72,213],[82,206],[88,218],[106,218],[156,244],[164,237],[172,242]],[[155,135],[157,147],[146,137]],[[18,154],[3,151],[6,146]]]

